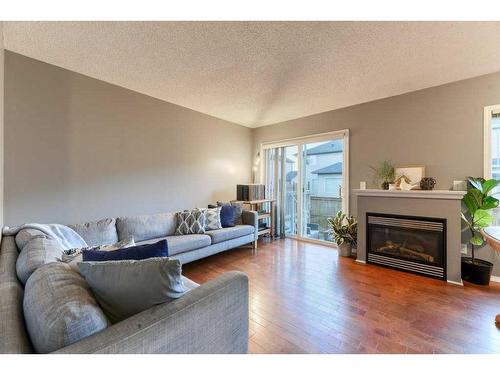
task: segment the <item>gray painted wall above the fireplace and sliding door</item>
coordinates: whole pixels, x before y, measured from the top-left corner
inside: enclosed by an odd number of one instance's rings
[[[500,73],[485,75],[254,129],[254,154],[265,141],[348,128],[351,189],[360,181],[374,187],[369,166],[383,159],[423,164],[436,188],[448,189],[482,175],[483,107],[499,103]],[[356,212],[352,194],[350,208]],[[487,247],[478,253],[500,276],[498,255]]]

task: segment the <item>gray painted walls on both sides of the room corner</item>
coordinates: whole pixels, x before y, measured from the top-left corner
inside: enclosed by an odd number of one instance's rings
[[[8,51],[5,71],[7,225],[231,199],[261,142],[345,128],[351,188],[392,159],[447,189],[482,174],[483,107],[500,103],[495,73],[250,130]],[[500,275],[490,249],[479,256]]]

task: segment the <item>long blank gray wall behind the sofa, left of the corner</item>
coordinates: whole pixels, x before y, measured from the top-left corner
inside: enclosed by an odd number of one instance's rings
[[[5,223],[206,207],[250,180],[251,130],[5,53]]]

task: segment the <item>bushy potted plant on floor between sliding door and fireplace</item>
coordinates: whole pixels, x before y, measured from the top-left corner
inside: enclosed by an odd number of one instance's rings
[[[340,255],[350,257],[353,246],[358,240],[358,222],[354,216],[347,216],[342,211],[337,212],[335,217],[328,218],[330,233],[337,243]]]

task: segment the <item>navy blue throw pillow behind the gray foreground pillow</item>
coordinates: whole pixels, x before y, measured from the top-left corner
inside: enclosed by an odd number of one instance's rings
[[[125,247],[123,249],[104,250],[82,250],[84,262],[104,262],[107,260],[141,260],[168,256],[167,240],[161,240],[153,244]]]

